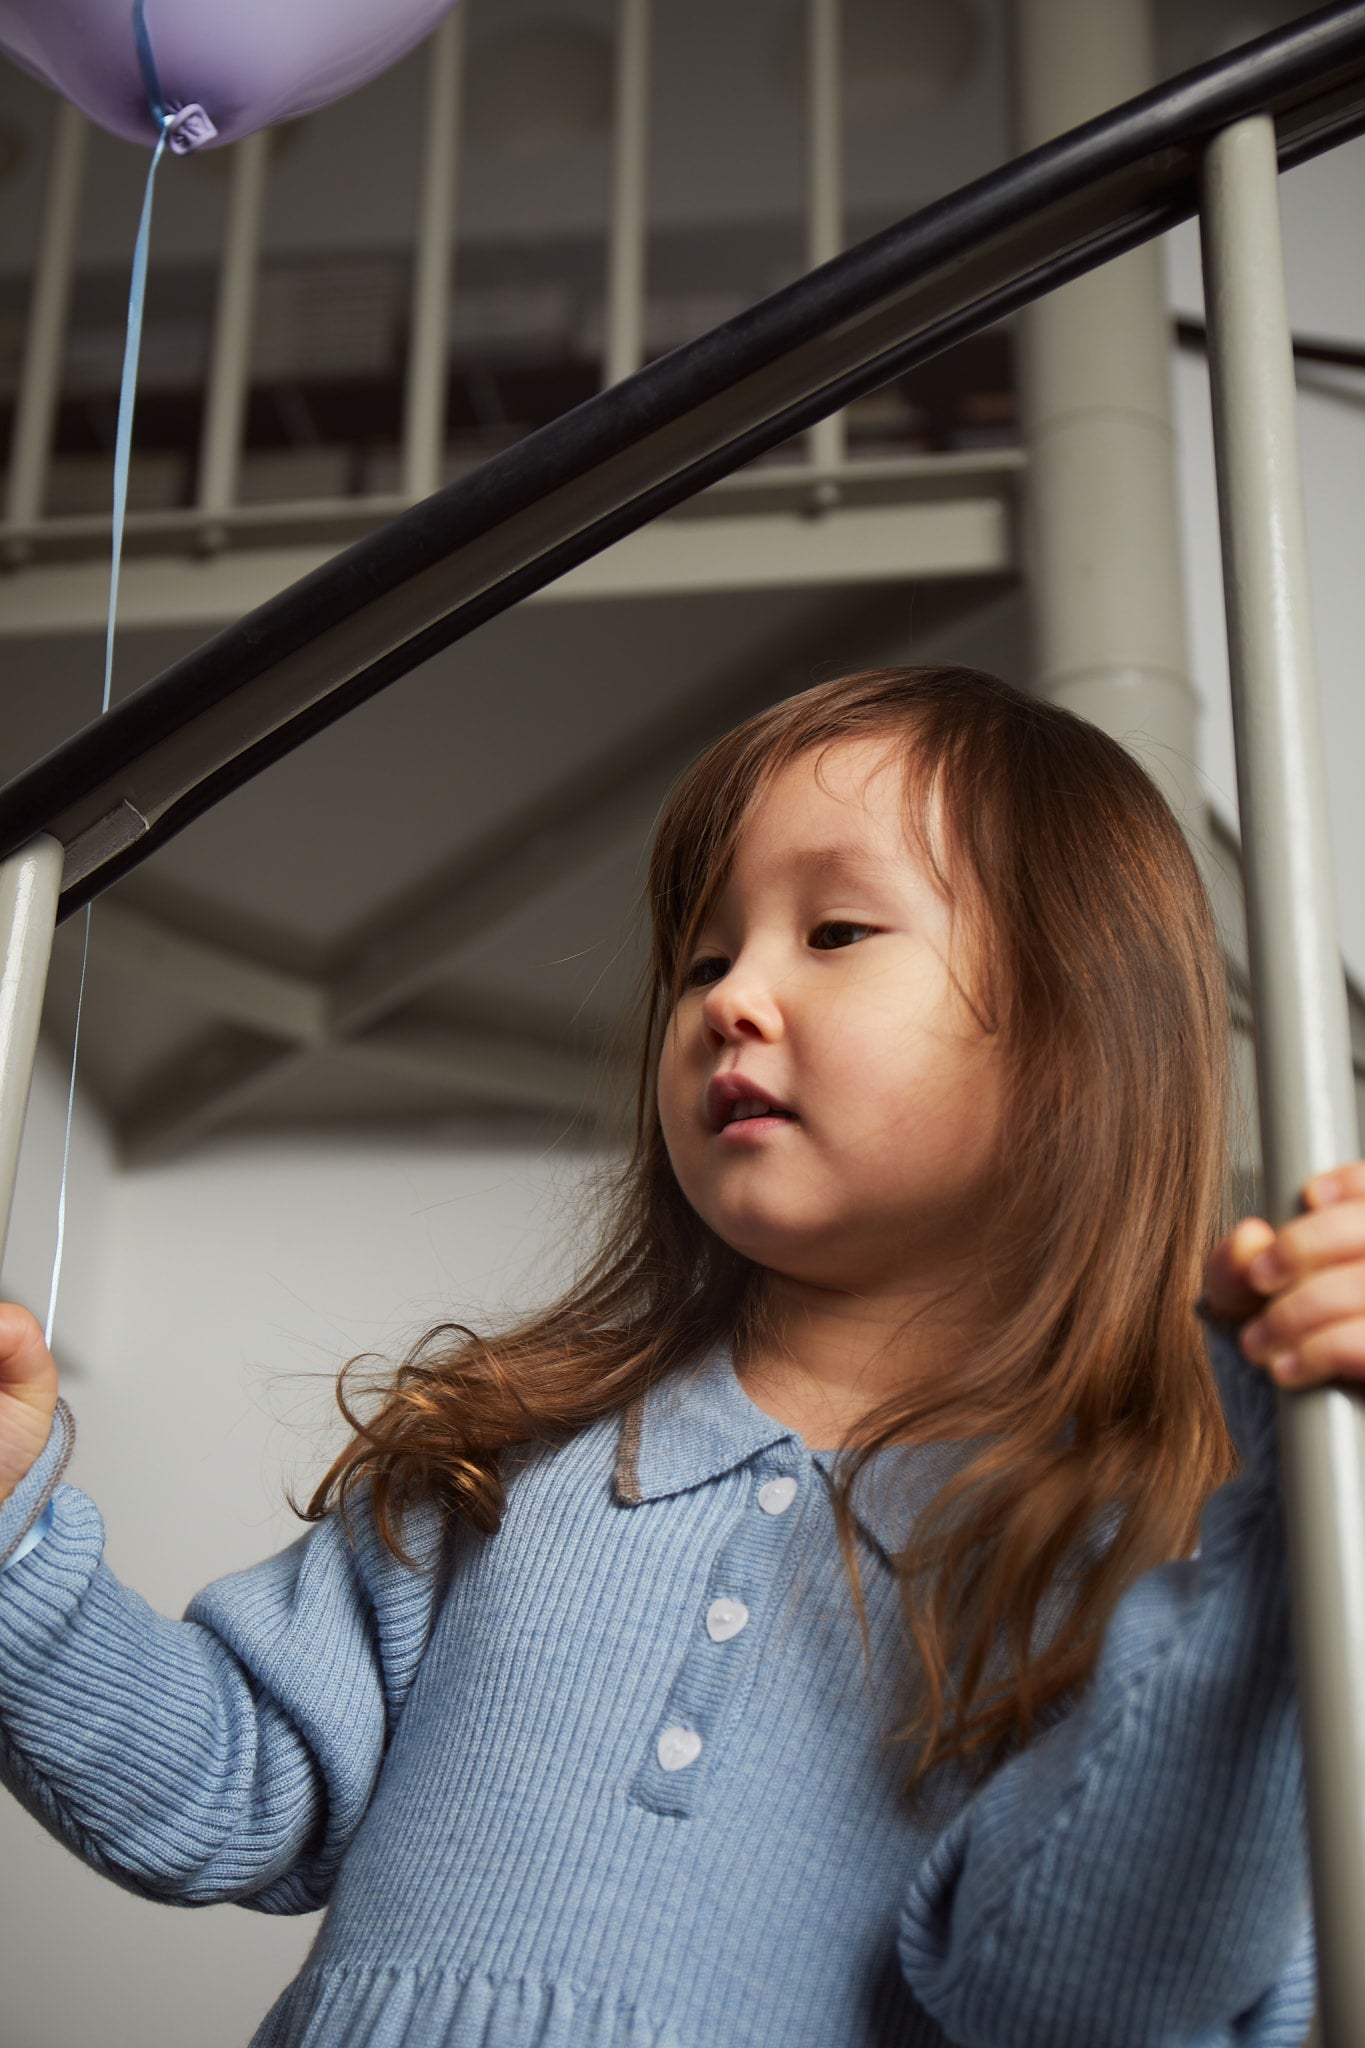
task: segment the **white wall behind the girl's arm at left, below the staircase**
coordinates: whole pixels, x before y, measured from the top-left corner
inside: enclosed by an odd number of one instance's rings
[[[45,1053],[18,1264],[6,1262],[6,1290],[39,1315],[63,1112]],[[305,1497],[342,1442],[332,1384],[344,1358],[397,1356],[442,1317],[497,1317],[551,1290],[546,1247],[571,1231],[589,1163],[524,1137],[291,1137],[119,1176],[98,1120],[86,1112],[82,1128],[57,1317],[78,1421],[68,1479],[104,1516],[108,1567],[168,1616],[301,1534],[282,1487]],[[244,2048],[319,1919],[149,1905],[6,1794],[0,1868],[4,2048]]]

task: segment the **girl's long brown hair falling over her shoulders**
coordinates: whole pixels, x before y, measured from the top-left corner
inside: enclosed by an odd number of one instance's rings
[[[354,1440],[299,1513],[319,1520],[334,1499],[344,1511],[368,1481],[403,1563],[395,1513],[415,1497],[495,1534],[503,1448],[563,1442],[720,1339],[743,1354],[763,1319],[761,1268],[677,1186],[655,1104],[659,1047],[751,803],[796,756],[860,735],[902,741],[907,831],[954,928],[958,913],[968,924],[982,1022],[1007,1063],[993,1239],[974,1276],[990,1331],[960,1370],[921,1376],[866,1417],[835,1468],[868,1651],[857,1473],[890,1442],[970,1452],[896,1559],[917,1655],[892,1739],[911,1747],[905,1792],[919,1802],[935,1767],[984,1778],[1040,1716],[1066,1710],[1124,1591],[1189,1552],[1203,1501],[1238,1468],[1193,1315],[1232,1223],[1230,1016],[1207,893],[1134,756],[997,676],[841,676],[747,719],[681,776],[649,868],[634,1143],[604,1182],[596,1253],[520,1327],[428,1331],[370,1389],[368,1421],[346,1399],[350,1360],[338,1405]],[[935,788],[952,881],[925,825]],[[1040,1645],[1058,1597],[1060,1624]],[[1007,1667],[986,1683],[1001,1651]]]

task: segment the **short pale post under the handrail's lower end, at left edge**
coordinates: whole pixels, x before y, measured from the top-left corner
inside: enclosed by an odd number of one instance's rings
[[[0,1260],[14,1206],[63,860],[61,842],[41,831],[0,862]]]

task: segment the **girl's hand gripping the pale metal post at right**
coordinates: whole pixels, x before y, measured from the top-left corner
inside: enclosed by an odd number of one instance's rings
[[[1238,1331],[1242,1356],[1287,1386],[1365,1380],[1365,1159],[1304,1196],[1308,1214],[1279,1231],[1242,1217],[1209,1253],[1203,1298],[1230,1321],[1259,1311]]]

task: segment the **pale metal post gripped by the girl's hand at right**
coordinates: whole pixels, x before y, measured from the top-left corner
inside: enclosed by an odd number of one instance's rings
[[[1269,115],[1209,143],[1201,236],[1265,1202],[1279,1225],[1306,1180],[1357,1157],[1359,1128]],[[1326,2048],[1365,2048],[1363,1446],[1365,1391],[1279,1393]]]

